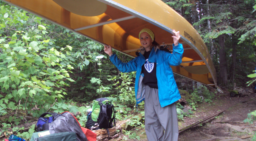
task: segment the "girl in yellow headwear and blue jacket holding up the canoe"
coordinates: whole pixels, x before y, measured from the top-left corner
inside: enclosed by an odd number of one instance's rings
[[[111,46],[104,52],[121,72],[137,71],[135,97],[137,105],[145,100],[145,131],[148,141],[177,141],[179,135],[175,101],[181,98],[173,77],[171,66],[181,63],[183,46],[179,43],[179,31],[173,30],[173,53],[159,50],[150,29],[139,32],[140,44],[144,48],[139,56],[122,63]]]

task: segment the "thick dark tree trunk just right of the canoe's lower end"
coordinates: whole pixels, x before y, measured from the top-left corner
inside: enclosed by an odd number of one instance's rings
[[[220,83],[222,85],[227,85],[228,74],[227,74],[227,62],[226,62],[226,52],[225,52],[225,40],[224,34],[219,35],[219,61],[220,61]]]

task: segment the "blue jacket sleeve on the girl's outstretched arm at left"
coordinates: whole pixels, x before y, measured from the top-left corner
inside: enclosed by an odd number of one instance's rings
[[[128,63],[123,63],[116,54],[112,54],[110,61],[118,68],[119,71],[123,73],[134,72],[137,69],[137,57],[129,61]]]

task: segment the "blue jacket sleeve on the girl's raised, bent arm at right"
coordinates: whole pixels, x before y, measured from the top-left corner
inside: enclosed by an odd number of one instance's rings
[[[168,60],[168,65],[170,66],[179,66],[181,64],[182,61],[182,54],[183,54],[184,50],[183,50],[183,45],[182,44],[178,44],[176,46],[174,46],[173,44],[173,52],[172,54],[169,52],[165,52],[163,57],[164,59]]]

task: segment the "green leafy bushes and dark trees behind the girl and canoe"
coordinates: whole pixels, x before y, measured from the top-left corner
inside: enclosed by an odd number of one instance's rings
[[[255,83],[246,83],[255,80],[247,75],[256,66],[256,1],[162,1],[199,32],[210,51],[220,88],[254,88]],[[85,113],[99,97],[115,103],[119,119],[136,108],[136,72],[119,72],[101,44],[4,2],[0,5],[1,134],[47,111]],[[123,62],[132,59],[115,53]],[[182,76],[175,75],[175,80],[181,90],[192,93],[198,88]],[[86,116],[79,121],[85,122]]]

